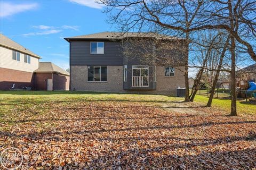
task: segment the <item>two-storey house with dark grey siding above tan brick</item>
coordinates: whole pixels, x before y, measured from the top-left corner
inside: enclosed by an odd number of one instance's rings
[[[155,37],[134,32],[65,38],[70,44],[70,90],[176,95],[177,88],[185,87],[185,67],[178,62],[177,67],[166,67],[154,59],[147,62],[139,54],[127,57],[123,47],[129,46],[131,37],[146,38],[152,53],[157,48],[150,44]]]

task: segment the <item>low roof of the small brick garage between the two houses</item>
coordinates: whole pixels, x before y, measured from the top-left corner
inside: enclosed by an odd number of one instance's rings
[[[61,69],[61,67],[53,64],[52,62],[39,62],[39,69],[34,71],[35,73],[58,73],[68,75],[69,72]]]

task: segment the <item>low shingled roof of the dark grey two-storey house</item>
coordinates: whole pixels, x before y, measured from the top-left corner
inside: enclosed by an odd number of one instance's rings
[[[159,38],[159,39],[178,39],[176,37],[171,37],[171,36],[165,36],[161,35],[158,33],[154,32],[99,32],[99,33],[92,33],[89,35],[82,35],[82,36],[75,36],[75,37],[69,37],[69,38],[64,38],[67,41],[70,40],[86,40],[86,39],[123,39],[127,37],[154,37],[154,38]],[[181,38],[180,38],[181,39]]]

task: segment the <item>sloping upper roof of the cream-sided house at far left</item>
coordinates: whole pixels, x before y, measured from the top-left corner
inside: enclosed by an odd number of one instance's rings
[[[2,35],[2,33],[0,33],[0,46],[7,47],[7,48],[10,48],[10,49],[14,49],[14,50],[17,50],[19,52],[28,54],[28,55],[36,57],[36,58],[41,58],[37,54],[28,50],[27,48],[21,46],[20,44],[16,43],[15,41],[11,40],[10,38]]]

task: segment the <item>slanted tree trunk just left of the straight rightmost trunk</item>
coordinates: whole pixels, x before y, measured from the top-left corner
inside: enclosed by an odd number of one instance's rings
[[[214,81],[212,83],[211,95],[209,97],[209,100],[208,100],[208,103],[207,103],[206,107],[211,107],[212,106],[212,100],[213,100],[213,96],[214,96],[214,91],[215,91],[215,88],[216,88],[216,85],[217,85],[217,82],[218,82],[218,79],[219,79],[220,69],[221,69],[221,66],[222,66],[223,58],[224,58],[226,50],[227,50],[228,41],[229,41],[229,38],[227,39],[226,44],[225,44],[225,46],[224,46],[224,48],[223,48],[223,50],[221,52],[220,61],[219,61],[219,65],[218,65],[218,68],[217,68],[217,72],[215,74],[215,78],[214,78]]]

